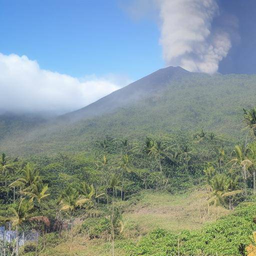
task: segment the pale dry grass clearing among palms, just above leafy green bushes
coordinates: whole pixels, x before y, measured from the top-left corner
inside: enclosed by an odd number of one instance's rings
[[[178,231],[199,229],[203,223],[228,214],[223,207],[207,209],[208,191],[195,189],[183,194],[171,195],[168,192],[142,191],[137,198],[131,198],[123,217],[128,227],[136,227],[144,235],[155,228]]]

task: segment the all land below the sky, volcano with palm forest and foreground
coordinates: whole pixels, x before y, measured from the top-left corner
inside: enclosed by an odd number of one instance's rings
[[[168,67],[57,118],[5,115],[1,255],[254,253],[255,81]]]

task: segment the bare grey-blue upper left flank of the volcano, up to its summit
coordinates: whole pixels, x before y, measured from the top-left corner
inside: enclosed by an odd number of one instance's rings
[[[151,93],[166,88],[172,81],[181,81],[189,72],[181,67],[169,66],[159,69],[127,86],[81,109],[60,117],[62,120],[77,121],[103,113],[112,112],[117,107],[132,105],[137,100],[150,96]]]

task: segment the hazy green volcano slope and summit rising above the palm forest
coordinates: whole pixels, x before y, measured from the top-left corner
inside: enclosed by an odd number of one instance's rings
[[[166,67],[27,133],[7,136],[0,149],[76,151],[105,135],[132,138],[199,128],[237,138],[242,108],[254,105],[255,88],[256,75]]]

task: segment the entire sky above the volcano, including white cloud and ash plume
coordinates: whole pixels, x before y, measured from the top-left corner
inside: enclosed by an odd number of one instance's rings
[[[167,65],[256,73],[255,14],[255,0],[0,0],[0,112],[75,110]]]

